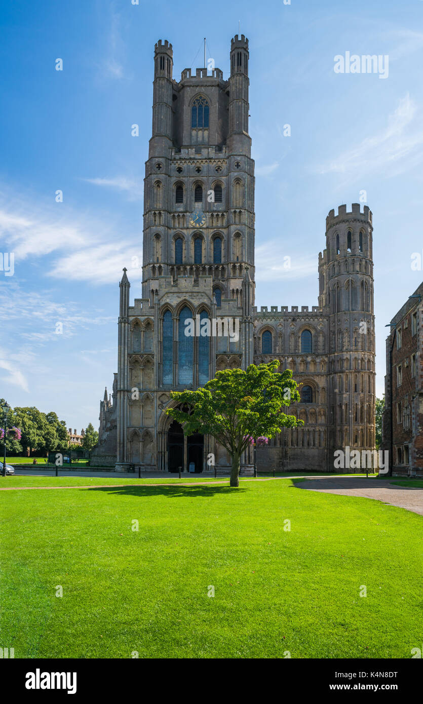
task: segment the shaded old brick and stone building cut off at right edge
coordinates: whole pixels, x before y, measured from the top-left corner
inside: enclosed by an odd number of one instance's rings
[[[391,320],[386,338],[382,448],[395,476],[423,477],[423,283]]]

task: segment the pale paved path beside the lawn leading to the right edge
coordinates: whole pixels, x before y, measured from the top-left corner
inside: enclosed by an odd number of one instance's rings
[[[394,480],[398,479],[395,477]],[[295,482],[295,479],[294,479]],[[406,508],[423,516],[423,482],[422,489],[408,489],[396,486],[387,479],[371,477],[315,477],[296,484],[298,489],[322,491],[323,494],[341,494],[341,496],[364,496],[383,501],[393,506]]]

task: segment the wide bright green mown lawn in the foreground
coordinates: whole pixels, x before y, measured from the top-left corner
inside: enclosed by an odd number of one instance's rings
[[[15,658],[410,658],[421,647],[421,516],[291,479],[131,482],[0,491],[0,640]]]

